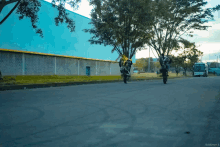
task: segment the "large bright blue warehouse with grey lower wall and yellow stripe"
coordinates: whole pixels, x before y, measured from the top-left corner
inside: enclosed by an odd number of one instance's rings
[[[75,31],[67,24],[55,25],[58,10],[40,1],[38,28],[44,38],[36,34],[30,18],[19,20],[15,11],[0,25],[0,70],[3,75],[119,75],[118,53],[112,46],[91,45],[91,19],[66,10],[75,22]],[[2,20],[16,3],[3,8]],[[132,58],[135,62],[135,56]],[[133,68],[131,68],[133,69]],[[133,71],[131,71],[133,73]]]

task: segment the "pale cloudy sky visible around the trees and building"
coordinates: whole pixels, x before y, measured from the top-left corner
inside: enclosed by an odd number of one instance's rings
[[[51,2],[52,0],[46,0]],[[215,7],[220,4],[220,0],[206,0],[208,4],[204,8]],[[92,6],[89,5],[88,0],[81,0],[78,10],[73,10],[69,5],[65,6],[66,9],[83,15],[85,17],[90,17],[90,12]],[[202,57],[203,62],[207,61],[217,61],[217,56],[220,57],[220,13],[213,13],[215,21],[210,21],[206,25],[212,26],[207,31],[194,31],[194,37],[188,38],[190,41],[195,42],[198,45],[198,49],[203,52],[204,56]],[[150,57],[157,58],[155,51],[150,50]],[[178,53],[173,52],[177,55]],[[149,50],[138,51],[136,58],[145,58],[149,57]],[[220,61],[220,60],[219,60]]]

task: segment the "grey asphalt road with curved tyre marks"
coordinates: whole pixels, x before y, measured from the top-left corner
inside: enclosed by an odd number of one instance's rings
[[[0,91],[0,144],[220,146],[219,87],[193,77]]]

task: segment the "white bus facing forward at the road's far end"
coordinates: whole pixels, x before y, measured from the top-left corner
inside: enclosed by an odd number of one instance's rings
[[[208,76],[208,65],[206,63],[195,63],[193,65],[193,76],[203,76],[207,77]]]

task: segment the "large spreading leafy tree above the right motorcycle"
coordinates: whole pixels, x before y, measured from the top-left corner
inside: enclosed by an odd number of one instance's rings
[[[182,36],[193,37],[193,30],[207,30],[210,26],[204,26],[207,20],[202,19],[213,19],[212,12],[220,9],[220,5],[203,9],[206,4],[205,0],[152,1],[153,37],[146,43],[155,49],[158,56],[162,53],[169,55],[172,50],[178,50],[181,44],[190,45]]]

